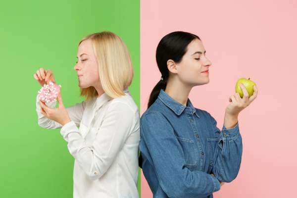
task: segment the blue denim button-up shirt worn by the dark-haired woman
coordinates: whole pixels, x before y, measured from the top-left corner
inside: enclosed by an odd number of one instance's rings
[[[184,106],[160,91],[140,122],[142,169],[154,198],[213,198],[219,181],[237,177],[243,151],[239,124],[222,131],[216,124],[190,99]]]

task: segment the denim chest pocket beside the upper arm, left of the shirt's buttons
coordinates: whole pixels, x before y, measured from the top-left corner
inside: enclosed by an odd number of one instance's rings
[[[176,136],[176,138],[184,151],[186,167],[191,171],[196,170],[198,167],[198,148],[196,144],[190,139],[178,136]]]

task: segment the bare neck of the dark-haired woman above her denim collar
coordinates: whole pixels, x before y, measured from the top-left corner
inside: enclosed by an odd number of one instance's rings
[[[181,83],[179,79],[169,78],[167,81],[165,93],[171,98],[187,106],[187,101],[192,87]]]

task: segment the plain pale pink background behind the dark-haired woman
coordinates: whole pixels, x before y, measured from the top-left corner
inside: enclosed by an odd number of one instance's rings
[[[197,34],[211,60],[209,84],[190,99],[221,129],[229,96],[241,77],[258,97],[240,116],[243,159],[238,177],[215,198],[294,197],[297,181],[297,1],[141,1],[141,111],[161,75],[155,62],[160,39],[182,30]],[[295,126],[294,126],[295,125]],[[142,198],[152,194],[142,175]]]

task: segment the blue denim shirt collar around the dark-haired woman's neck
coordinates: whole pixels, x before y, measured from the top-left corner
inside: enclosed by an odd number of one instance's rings
[[[195,113],[198,118],[200,118],[196,112],[196,108],[193,106],[190,99],[187,100],[188,106],[184,106],[182,103],[176,101],[175,99],[171,98],[163,89],[160,90],[158,98],[173,112],[177,115],[180,115],[185,109],[188,112]]]

